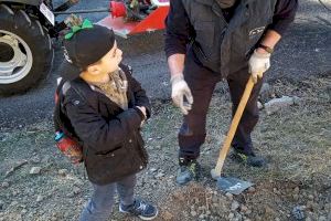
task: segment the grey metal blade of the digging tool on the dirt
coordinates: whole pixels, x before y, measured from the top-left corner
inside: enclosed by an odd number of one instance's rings
[[[217,188],[232,194],[241,194],[254,183],[234,177],[217,178]]]

